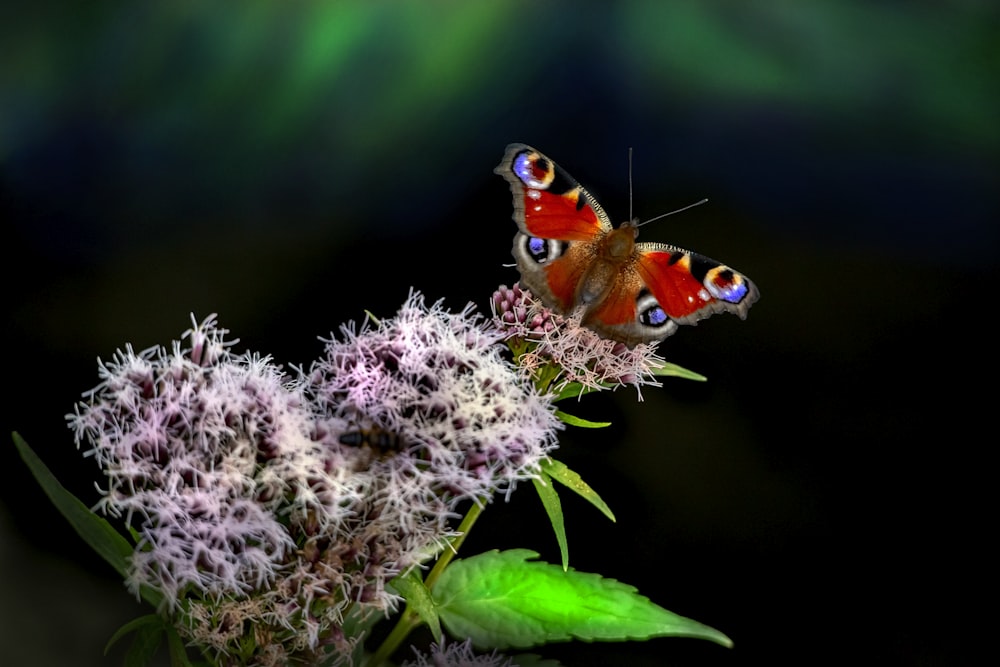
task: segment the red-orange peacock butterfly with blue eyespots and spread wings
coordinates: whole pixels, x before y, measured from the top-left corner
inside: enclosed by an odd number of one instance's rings
[[[514,196],[521,284],[562,315],[634,347],[715,313],[745,319],[760,292],[725,264],[666,243],[636,243],[638,222],[614,227],[593,195],[550,158],[510,144],[494,169]]]

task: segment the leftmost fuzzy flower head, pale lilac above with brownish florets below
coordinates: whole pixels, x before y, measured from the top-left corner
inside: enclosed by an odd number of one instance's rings
[[[346,654],[345,611],[395,602],[366,594],[383,583],[357,519],[370,478],[312,439],[301,388],[269,358],[233,353],[227,334],[213,316],[170,350],[126,347],[100,364],[69,415],[107,478],[98,507],[138,524],[129,588],[161,593],[187,639],[223,656],[249,632],[255,665],[310,662],[321,637]],[[327,560],[320,536],[338,541]]]

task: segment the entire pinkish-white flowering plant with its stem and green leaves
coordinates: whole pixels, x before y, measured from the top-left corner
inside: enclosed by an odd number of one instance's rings
[[[165,632],[178,664],[195,650],[227,667],[377,667],[420,625],[435,645],[406,664],[513,665],[472,646],[572,638],[729,645],[630,586],[568,567],[556,483],[613,514],[550,458],[563,420],[603,425],[555,402],[700,376],[652,346],[601,339],[517,285],[495,292],[491,307],[484,319],[471,305],[452,313],[411,293],[393,317],[341,327],[319,359],[290,370],[234,352],[215,316],[192,318],[169,348],[126,346],[99,361],[99,384],[67,418],[106,478],[96,509],[124,520],[132,542],[79,511],[15,442],[80,534],[156,606],[129,625],[135,644],[151,646],[151,628]],[[562,567],[529,549],[455,559],[494,495],[526,481]],[[403,603],[366,653],[374,623]],[[142,664],[134,650],[129,661]]]

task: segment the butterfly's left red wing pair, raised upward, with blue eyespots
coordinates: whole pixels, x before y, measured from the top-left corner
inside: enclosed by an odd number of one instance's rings
[[[600,240],[612,230],[608,214],[572,176],[530,146],[507,146],[494,172],[513,195],[519,231],[512,252],[522,284],[548,307],[569,312]]]

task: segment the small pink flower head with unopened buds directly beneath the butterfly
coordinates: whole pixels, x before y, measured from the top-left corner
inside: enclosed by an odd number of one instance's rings
[[[583,326],[580,317],[562,316],[542,305],[517,283],[501,285],[490,301],[493,325],[515,354],[521,371],[557,395],[632,385],[660,386],[664,367],[655,344],[629,348]]]

